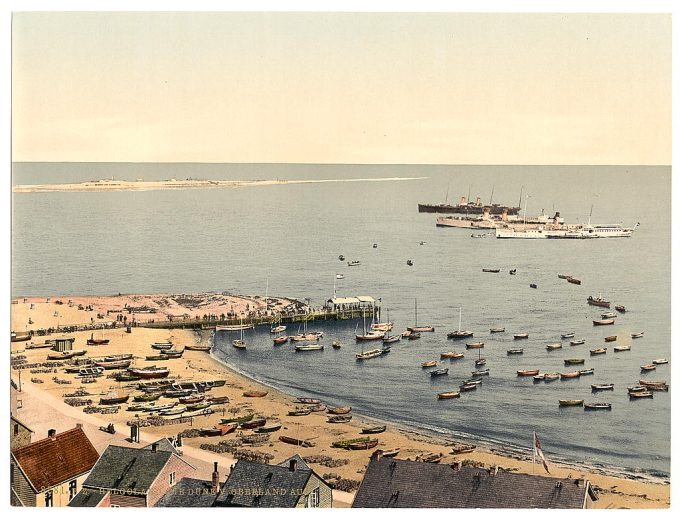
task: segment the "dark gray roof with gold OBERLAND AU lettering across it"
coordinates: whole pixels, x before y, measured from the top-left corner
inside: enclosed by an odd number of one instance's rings
[[[295,507],[312,471],[239,460],[217,497],[220,507]]]

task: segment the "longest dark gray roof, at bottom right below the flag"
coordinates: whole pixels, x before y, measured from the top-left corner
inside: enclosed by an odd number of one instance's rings
[[[499,470],[371,460],[352,507],[583,508],[587,486]]]

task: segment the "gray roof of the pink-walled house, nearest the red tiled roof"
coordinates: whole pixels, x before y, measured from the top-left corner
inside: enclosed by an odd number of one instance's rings
[[[169,451],[109,446],[92,468],[83,487],[146,494],[173,456]]]

